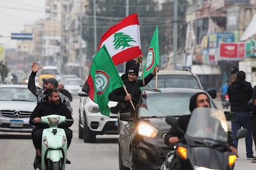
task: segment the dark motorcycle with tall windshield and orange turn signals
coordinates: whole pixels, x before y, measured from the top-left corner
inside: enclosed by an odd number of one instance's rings
[[[184,136],[168,153],[161,170],[177,169],[177,163],[184,166],[183,169],[234,169],[237,155],[229,150],[229,144],[247,136],[247,129],[239,129],[232,138],[223,111],[195,108],[186,133],[177,126],[177,118],[166,116],[166,123]]]

